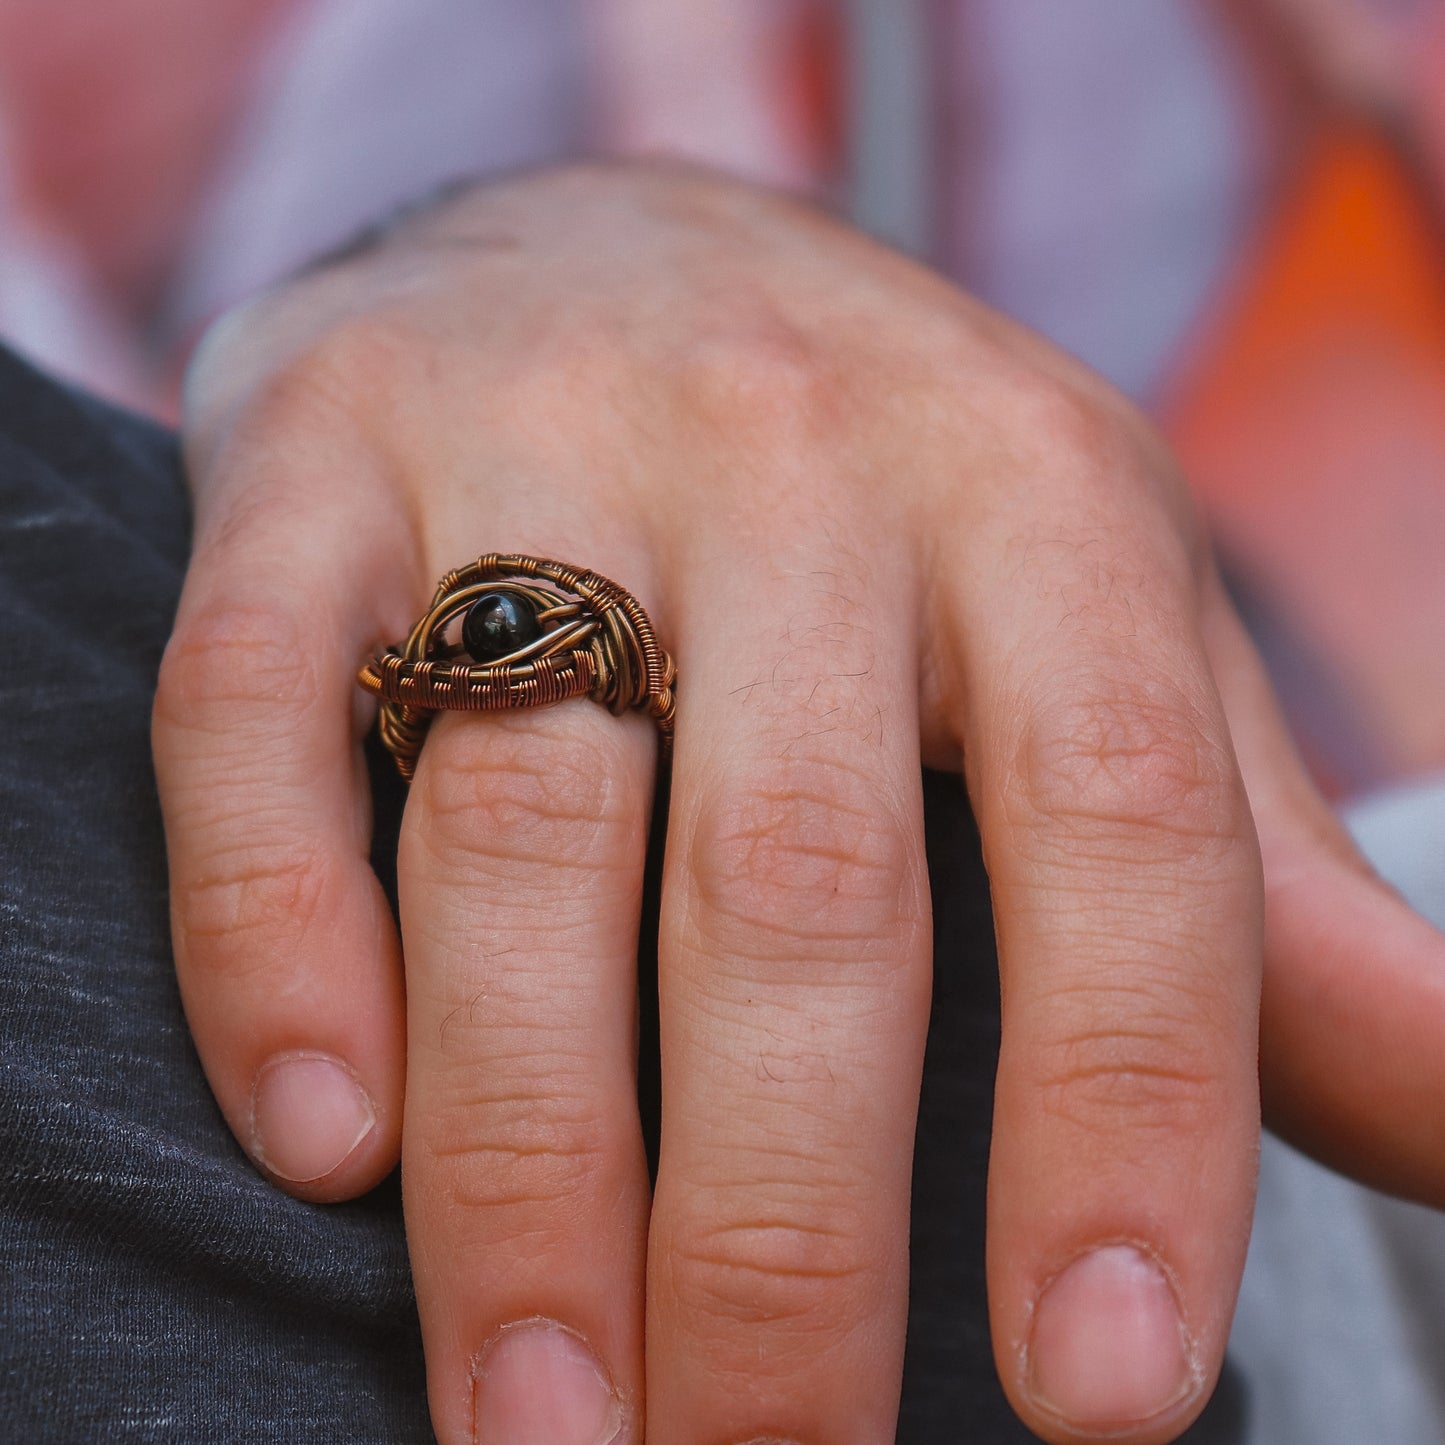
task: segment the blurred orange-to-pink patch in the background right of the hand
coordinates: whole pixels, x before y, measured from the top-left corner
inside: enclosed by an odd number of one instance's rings
[[[1445,766],[1445,244],[1381,131],[1321,130],[1163,416],[1386,770]]]

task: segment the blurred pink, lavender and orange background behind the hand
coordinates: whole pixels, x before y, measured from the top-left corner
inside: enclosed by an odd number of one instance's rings
[[[218,311],[397,204],[653,152],[1144,405],[1312,770],[1445,919],[1445,0],[0,0],[0,337],[169,419]],[[1266,1152],[1256,1438],[1445,1439],[1438,1224],[1309,1168]]]

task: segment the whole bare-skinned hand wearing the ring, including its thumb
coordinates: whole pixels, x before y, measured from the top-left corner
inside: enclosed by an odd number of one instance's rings
[[[994,892],[990,1299],[1030,1426],[1165,1441],[1208,1393],[1261,941],[1274,1116],[1445,1198],[1445,949],[1305,780],[1166,451],[1039,340],[786,201],[569,169],[233,315],[188,410],[155,733],[186,1010],[283,1188],[400,1152],[444,1445],[640,1441],[644,1397],[657,1445],[893,1438],[920,760],[964,767]],[[679,665],[650,1214],[650,725],[436,722],[405,981],[366,863],[354,669],[488,549],[617,578]]]

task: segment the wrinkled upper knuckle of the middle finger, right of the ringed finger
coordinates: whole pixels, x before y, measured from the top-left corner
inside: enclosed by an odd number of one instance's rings
[[[714,795],[692,840],[696,919],[743,957],[877,962],[923,912],[919,868],[896,803],[838,763]]]

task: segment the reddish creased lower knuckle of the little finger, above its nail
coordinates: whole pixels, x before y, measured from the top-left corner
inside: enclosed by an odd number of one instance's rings
[[[192,942],[223,941],[202,951],[217,965],[264,964],[325,920],[329,873],[325,853],[301,838],[212,854],[176,879],[178,928]],[[259,935],[269,949],[243,946]]]

